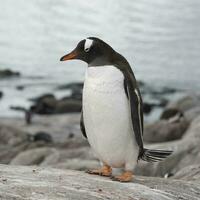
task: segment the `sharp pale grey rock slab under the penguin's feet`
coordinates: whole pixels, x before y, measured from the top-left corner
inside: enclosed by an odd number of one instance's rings
[[[84,172],[0,165],[0,197],[15,200],[197,200],[199,181],[135,177],[132,183]]]

